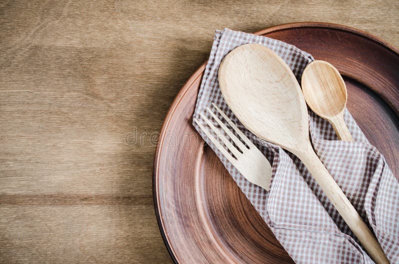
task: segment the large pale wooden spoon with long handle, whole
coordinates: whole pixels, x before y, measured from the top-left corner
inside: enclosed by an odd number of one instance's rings
[[[300,158],[374,261],[389,263],[373,233],[314,152],[305,99],[288,65],[262,45],[242,45],[222,61],[219,84],[238,120],[258,137]]]

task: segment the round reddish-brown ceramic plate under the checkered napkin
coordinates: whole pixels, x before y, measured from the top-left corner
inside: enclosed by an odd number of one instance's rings
[[[291,23],[256,32],[332,63],[350,112],[399,171],[399,52],[357,29]],[[203,64],[165,119],[154,161],[154,202],[165,244],[178,263],[292,263],[222,163],[192,126]]]

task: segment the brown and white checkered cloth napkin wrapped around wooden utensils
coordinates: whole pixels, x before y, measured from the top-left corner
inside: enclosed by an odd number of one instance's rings
[[[212,102],[223,110],[270,161],[273,168],[270,191],[247,181],[198,125],[193,125],[296,263],[373,263],[302,162],[246,130],[223,100],[218,85],[219,65],[229,51],[246,43],[272,49],[288,64],[297,80],[313,57],[295,46],[263,36],[229,29],[215,33],[194,118],[206,128],[200,113],[212,120],[205,111],[206,107],[211,108]],[[310,109],[308,112],[311,140],[317,155],[375,232],[391,263],[399,263],[399,183],[384,157],[370,145],[348,111],[344,119],[355,142],[338,140],[326,120]],[[218,127],[216,122],[214,125]]]

